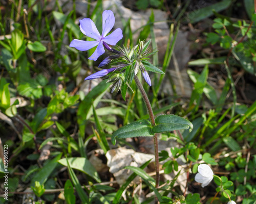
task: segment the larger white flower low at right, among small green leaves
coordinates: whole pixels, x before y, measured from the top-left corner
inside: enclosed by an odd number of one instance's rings
[[[202,183],[202,187],[204,188],[214,179],[214,172],[212,172],[207,164],[200,164],[197,170],[198,173],[196,174],[195,180],[198,183]]]

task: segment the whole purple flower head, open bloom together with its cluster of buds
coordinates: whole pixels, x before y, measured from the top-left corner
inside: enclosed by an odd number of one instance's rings
[[[108,79],[107,82],[113,83],[112,92],[117,92],[121,87],[123,87],[122,90],[126,90],[127,87],[130,87],[134,75],[140,70],[146,83],[151,86],[152,84],[148,71],[162,74],[164,72],[148,62],[149,59],[147,57],[154,54],[150,53],[150,48],[148,48],[150,41],[147,41],[146,43],[141,41],[134,48],[121,48],[117,46],[117,49],[114,49],[110,45],[116,45],[123,37],[120,28],[116,29],[110,35],[107,35],[112,30],[114,23],[115,17],[113,12],[105,10],[102,13],[102,34],[100,35],[96,25],[90,18],[83,18],[80,20],[81,32],[96,41],[74,39],[70,43],[70,47],[75,47],[78,50],[84,51],[97,46],[93,55],[89,57],[90,60],[94,61],[97,60],[100,55],[104,54],[105,49],[107,49],[109,56],[99,64],[99,67],[107,64],[111,66],[109,69],[102,69],[89,75],[84,80],[93,80],[104,77],[105,79]]]

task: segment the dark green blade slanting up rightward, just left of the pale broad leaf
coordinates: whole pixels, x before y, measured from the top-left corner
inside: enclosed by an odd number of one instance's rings
[[[42,169],[35,174],[30,185],[34,186],[36,181],[38,181],[40,184],[44,184],[57,166],[57,161],[61,158],[61,156],[62,154],[59,154],[53,160],[48,162],[44,167],[42,167]]]

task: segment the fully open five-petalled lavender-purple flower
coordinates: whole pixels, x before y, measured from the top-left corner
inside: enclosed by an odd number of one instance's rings
[[[96,61],[99,56],[101,56],[105,49],[111,49],[111,47],[108,45],[116,45],[116,43],[122,39],[122,30],[120,28],[116,29],[111,33],[110,35],[106,36],[111,29],[113,28],[115,24],[115,16],[112,11],[105,10],[102,13],[102,34],[99,34],[99,31],[96,28],[96,25],[90,18],[83,18],[82,20],[79,20],[80,22],[80,30],[84,35],[87,35],[88,37],[91,37],[95,39],[96,41],[84,41],[84,40],[77,40],[74,39],[70,43],[70,47],[75,47],[76,49],[80,51],[86,51],[88,49],[91,49],[95,46],[97,46],[95,52],[92,54],[91,57],[89,57],[89,60]],[[103,71],[103,70],[102,70]]]

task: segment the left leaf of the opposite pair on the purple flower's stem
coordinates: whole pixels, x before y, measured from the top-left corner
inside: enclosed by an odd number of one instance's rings
[[[138,120],[120,127],[111,137],[113,144],[116,144],[117,138],[145,137],[154,136],[151,123],[147,120]]]

